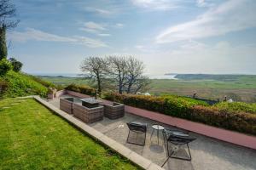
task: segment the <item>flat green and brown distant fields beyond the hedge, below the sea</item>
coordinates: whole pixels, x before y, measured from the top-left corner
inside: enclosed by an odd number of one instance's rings
[[[205,99],[223,99],[224,95],[236,101],[256,102],[256,76],[246,75],[177,75],[178,80],[153,79],[150,94],[178,94],[191,96],[194,92]],[[43,77],[55,84],[88,84],[88,80],[75,77]]]

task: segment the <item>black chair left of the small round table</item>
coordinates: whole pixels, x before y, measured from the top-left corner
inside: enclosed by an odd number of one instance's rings
[[[129,134],[128,134],[126,142],[129,143],[129,144],[145,145],[146,133],[147,133],[147,124],[141,123],[141,122],[128,122],[127,126],[129,128]],[[136,134],[137,133],[144,133],[143,144],[139,144],[139,143],[136,143],[136,142],[129,141],[131,132],[136,133]]]

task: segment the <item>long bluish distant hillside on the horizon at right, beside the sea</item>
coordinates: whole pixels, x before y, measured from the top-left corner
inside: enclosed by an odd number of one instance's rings
[[[177,74],[175,78],[182,80],[218,80],[237,81],[244,78],[256,78],[256,75],[213,75],[213,74]]]

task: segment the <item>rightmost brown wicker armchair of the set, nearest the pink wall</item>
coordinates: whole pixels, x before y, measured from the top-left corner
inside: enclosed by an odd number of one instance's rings
[[[104,116],[109,119],[117,119],[125,116],[125,105],[115,102],[112,105],[104,104]]]

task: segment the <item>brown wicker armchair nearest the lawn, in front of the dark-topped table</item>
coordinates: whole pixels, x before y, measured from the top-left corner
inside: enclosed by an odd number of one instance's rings
[[[104,107],[87,108],[83,105],[73,105],[73,116],[86,123],[98,122],[103,119]]]

